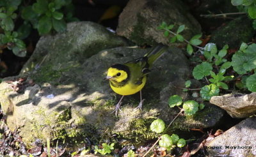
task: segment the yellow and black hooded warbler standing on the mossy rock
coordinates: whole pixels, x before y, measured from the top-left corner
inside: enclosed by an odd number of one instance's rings
[[[122,98],[118,101],[113,111],[116,115],[118,110],[120,110],[124,96],[135,94],[139,91],[140,104],[136,109],[142,108],[141,89],[145,86],[147,74],[150,73],[150,68],[154,61],[161,57],[167,48],[166,45],[157,45],[143,57],[124,64],[114,64],[108,68],[108,74],[105,80],[109,80],[110,87],[115,93],[122,95]]]

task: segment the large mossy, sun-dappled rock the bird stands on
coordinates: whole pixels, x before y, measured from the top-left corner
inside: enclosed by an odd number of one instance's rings
[[[125,41],[92,22],[68,24],[67,33],[42,37],[20,75],[6,78],[0,84],[0,103],[10,129],[20,128],[27,144],[35,138],[77,142],[85,137],[92,140],[109,137],[111,133],[139,141],[156,137],[149,125],[159,114],[166,123],[177,114],[177,108],[168,107],[168,97],[182,94],[179,87],[184,86],[189,76],[188,61],[180,49],[171,47],[156,61],[148,76],[143,89],[143,111],[134,111],[140,101],[139,94],[125,96],[122,112],[116,118],[111,112],[120,96],[103,80],[108,67],[141,57],[150,50],[120,45],[126,45]],[[173,83],[178,88],[169,86]],[[196,119],[194,127],[207,128],[220,119],[214,115],[211,117],[214,120],[207,123],[202,117]],[[189,117],[191,120],[193,116]],[[186,121],[183,118],[176,128],[185,127],[189,124]]]

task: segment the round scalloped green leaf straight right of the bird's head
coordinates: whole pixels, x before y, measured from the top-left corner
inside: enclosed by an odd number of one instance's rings
[[[196,80],[203,79],[203,77],[210,75],[211,70],[212,70],[212,65],[210,63],[203,62],[195,66],[193,70],[193,77]]]

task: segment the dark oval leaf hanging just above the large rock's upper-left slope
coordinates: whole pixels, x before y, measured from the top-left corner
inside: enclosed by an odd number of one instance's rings
[[[52,20],[50,17],[44,16],[38,22],[39,34],[47,34],[52,29]]]

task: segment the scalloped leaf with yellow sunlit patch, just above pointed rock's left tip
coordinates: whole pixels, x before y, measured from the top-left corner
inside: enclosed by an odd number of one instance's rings
[[[220,89],[215,84],[202,87],[200,95],[204,100],[210,100],[212,96],[218,96]]]

